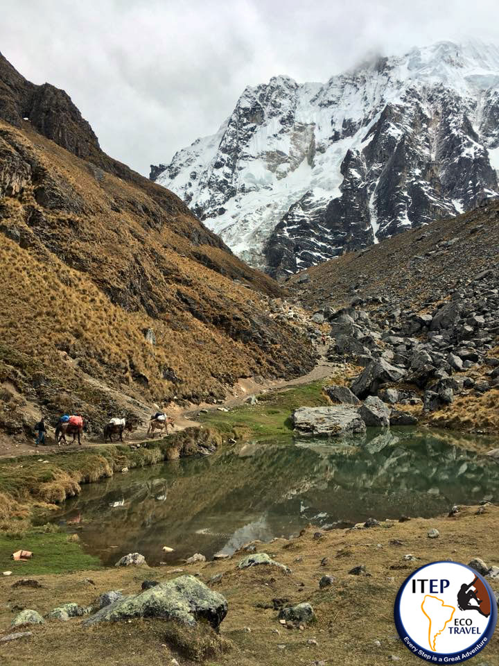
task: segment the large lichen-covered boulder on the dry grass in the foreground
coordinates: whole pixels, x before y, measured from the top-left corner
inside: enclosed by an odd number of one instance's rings
[[[133,617],[159,617],[189,626],[195,626],[198,620],[207,620],[213,629],[218,629],[227,615],[227,608],[225,597],[218,592],[213,592],[193,576],[180,576],[139,595],[118,599],[98,610],[83,624],[89,626]]]

